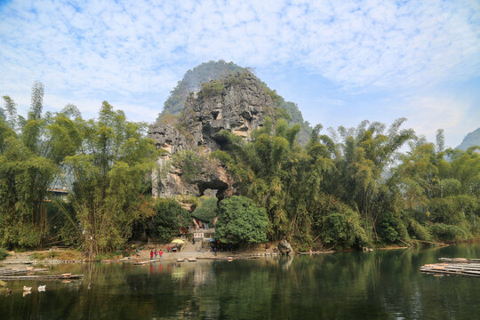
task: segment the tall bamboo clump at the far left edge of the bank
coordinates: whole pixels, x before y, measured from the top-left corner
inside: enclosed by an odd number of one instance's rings
[[[32,87],[28,118],[4,96],[7,121],[0,119],[0,236],[8,247],[41,245],[48,231],[45,198],[60,172],[58,148],[50,144],[50,115],[42,116],[44,85]]]

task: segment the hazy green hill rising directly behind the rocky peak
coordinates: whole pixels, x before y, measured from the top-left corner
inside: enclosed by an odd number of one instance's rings
[[[179,115],[181,109],[185,107],[185,101],[187,101],[190,92],[199,92],[202,89],[202,84],[211,80],[224,79],[230,75],[245,71],[250,71],[250,69],[224,60],[204,62],[196,66],[196,68],[188,70],[185,76],[183,76],[183,79],[181,79],[177,86],[173,88],[172,92],[170,92],[170,96],[164,102],[164,110],[158,115],[156,122],[158,123],[163,116],[168,114],[172,114],[173,116]],[[265,85],[267,86],[267,84]],[[298,139],[300,143],[306,143],[310,137],[312,128],[308,122],[303,120],[297,104],[291,101],[285,101],[281,96],[278,96],[277,102],[280,108],[283,108],[292,118],[292,124],[301,124]]]

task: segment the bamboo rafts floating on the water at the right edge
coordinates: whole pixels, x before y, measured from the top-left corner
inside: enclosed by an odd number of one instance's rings
[[[421,272],[435,275],[480,276],[480,259],[440,258],[441,263],[420,267]]]

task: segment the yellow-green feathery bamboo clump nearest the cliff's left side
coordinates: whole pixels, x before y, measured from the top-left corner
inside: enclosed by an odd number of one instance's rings
[[[156,148],[146,124],[126,120],[104,101],[98,121],[77,118],[80,146],[65,164],[73,179],[72,202],[90,257],[121,247],[140,218],[145,180]]]

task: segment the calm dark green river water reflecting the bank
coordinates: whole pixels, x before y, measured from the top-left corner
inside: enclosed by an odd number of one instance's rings
[[[233,262],[64,265],[82,281],[10,283],[2,319],[477,319],[480,278],[421,274],[480,244]],[[35,287],[22,297],[21,287]],[[36,286],[46,284],[46,292]],[[91,289],[88,289],[88,286]]]

